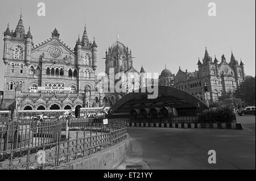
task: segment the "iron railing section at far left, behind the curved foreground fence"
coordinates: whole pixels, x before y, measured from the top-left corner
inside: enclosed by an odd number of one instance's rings
[[[0,151],[56,142],[61,132],[58,121],[8,121],[0,124]]]

